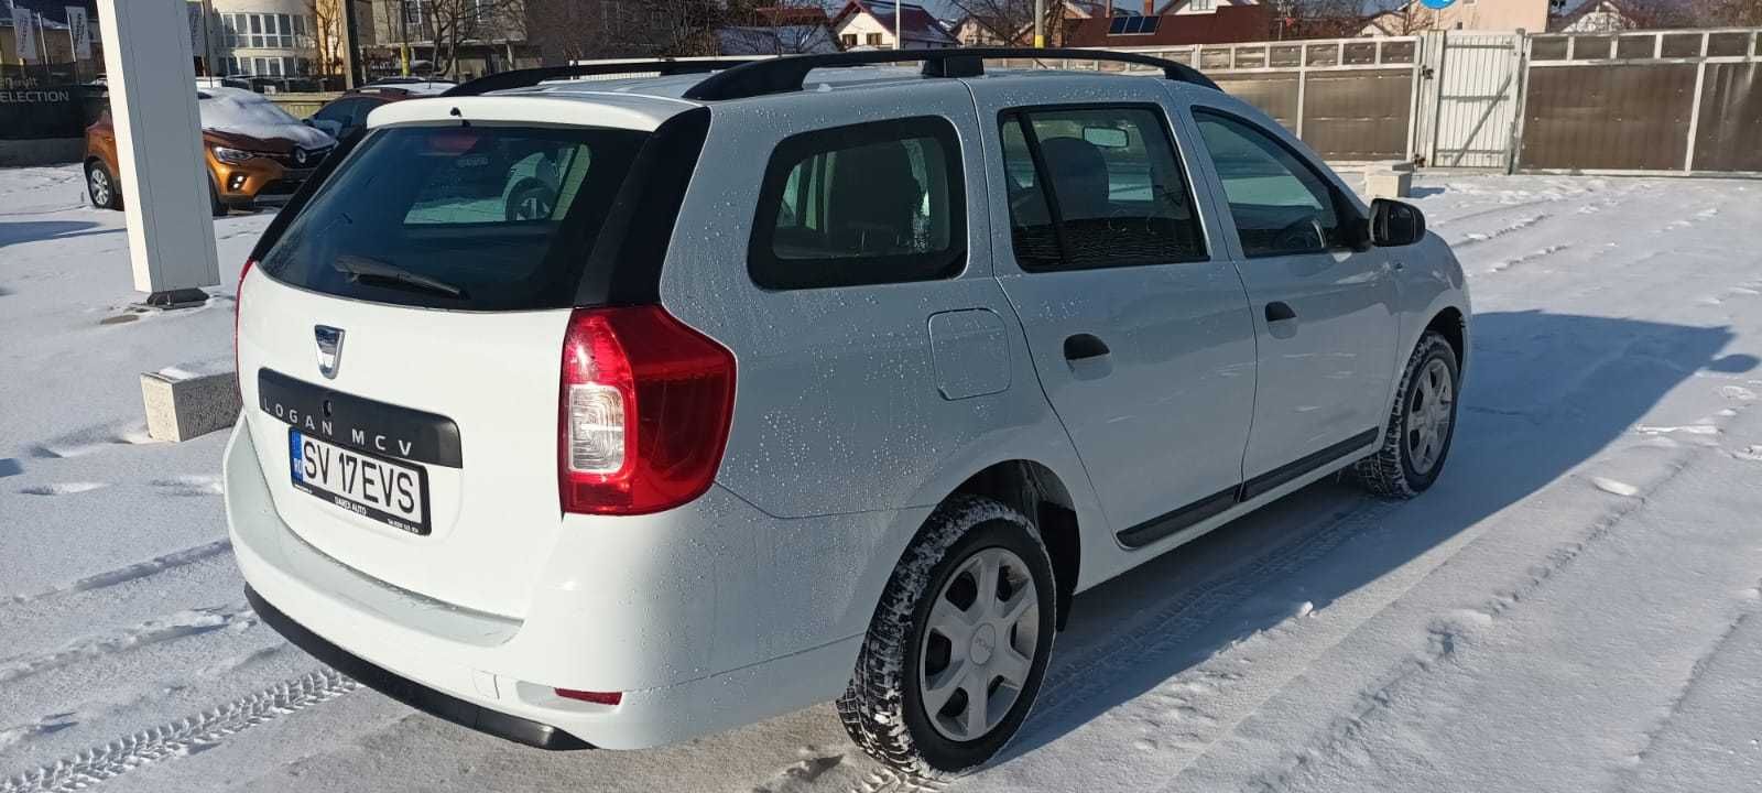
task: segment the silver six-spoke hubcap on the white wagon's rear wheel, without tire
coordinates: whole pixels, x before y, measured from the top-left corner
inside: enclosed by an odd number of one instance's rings
[[[1040,645],[1040,597],[1022,557],[985,548],[948,576],[918,647],[918,693],[948,740],[992,731],[1027,686]]]

